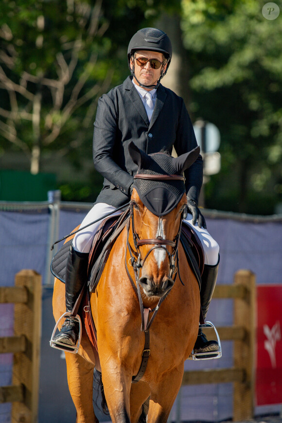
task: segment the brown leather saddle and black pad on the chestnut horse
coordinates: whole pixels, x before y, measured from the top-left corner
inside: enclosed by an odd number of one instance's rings
[[[129,217],[129,211],[126,210],[119,215],[107,217],[100,224],[89,253],[88,283],[86,283],[82,289],[75,306],[78,308],[80,302],[78,314],[84,322],[85,329],[95,355],[97,370],[99,370],[100,367],[97,349],[97,333],[91,313],[89,293],[95,291],[102,276],[111,248],[123,228],[126,226]],[[67,239],[65,244],[56,253],[51,263],[51,272],[61,282],[65,282],[65,267],[73,237],[74,235]],[[185,221],[182,222],[180,242],[185,251],[187,262],[196,276],[200,289],[201,275],[204,269],[204,252],[196,232],[191,226],[186,224]],[[179,275],[179,277],[181,278],[181,275]],[[86,287],[88,287],[88,289],[86,289]]]

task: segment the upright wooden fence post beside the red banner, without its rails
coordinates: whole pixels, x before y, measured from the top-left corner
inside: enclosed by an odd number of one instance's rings
[[[233,421],[251,419],[253,417],[253,363],[255,345],[255,301],[256,281],[250,270],[238,270],[234,275],[234,283],[246,287],[244,298],[234,299],[234,325],[245,329],[245,339],[234,341],[234,367],[243,368],[243,382],[234,383]]]

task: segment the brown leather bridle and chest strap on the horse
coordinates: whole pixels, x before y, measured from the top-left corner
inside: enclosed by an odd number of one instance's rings
[[[181,175],[146,175],[146,174],[137,174],[134,176],[134,178],[140,178],[140,179],[150,179],[150,180],[182,180],[185,181],[185,177],[181,176]],[[132,249],[132,247],[129,244],[129,228],[130,228],[130,222],[131,222],[131,227],[132,227],[132,233],[133,233],[133,240],[134,240],[134,247],[135,250]],[[180,225],[179,225],[179,229],[178,232],[176,234],[176,237],[173,241],[171,240],[166,240],[166,239],[162,239],[162,237],[158,237],[156,239],[139,239],[139,236],[135,230],[135,225],[134,225],[134,215],[133,215],[133,204],[132,202],[130,202],[130,219],[128,220],[127,223],[127,240],[126,240],[126,249],[128,249],[129,254],[130,254],[130,265],[133,267],[134,269],[134,275],[135,275],[135,280],[136,280],[136,284],[133,282],[130,272],[128,270],[128,266],[127,266],[127,261],[126,261],[126,252],[125,252],[125,268],[126,268],[126,272],[128,275],[128,278],[133,286],[134,291],[136,292],[138,299],[139,299],[139,305],[140,305],[140,311],[141,311],[141,331],[144,332],[145,335],[145,344],[144,344],[144,349],[142,351],[142,361],[141,361],[141,366],[140,369],[137,373],[136,376],[132,377],[132,383],[136,383],[138,382],[143,374],[145,373],[146,367],[147,367],[147,363],[148,363],[148,359],[150,356],[150,333],[149,333],[149,329],[153,323],[153,320],[156,317],[156,314],[159,310],[160,304],[162,303],[162,301],[167,297],[167,295],[169,294],[170,291],[168,291],[163,297],[161,297],[159,299],[158,305],[156,306],[156,308],[154,310],[150,310],[153,312],[153,315],[151,317],[151,319],[149,320],[149,322],[147,323],[147,318],[145,319],[144,317],[144,306],[143,306],[143,302],[142,302],[142,297],[141,297],[141,291],[140,291],[140,270],[144,264],[144,262],[146,261],[147,257],[149,256],[149,254],[155,249],[155,248],[162,248],[166,251],[166,253],[168,254],[168,258],[169,258],[169,265],[170,265],[170,270],[171,270],[171,277],[174,274],[174,281],[176,280],[176,274],[177,274],[177,264],[178,264],[178,244],[179,244],[179,238],[180,238],[180,232],[181,232],[181,226],[182,226],[182,218],[180,220]],[[143,245],[154,245],[154,247],[152,247],[147,254],[145,255],[144,259],[141,260],[141,252],[139,247],[143,246]],[[172,254],[168,251],[166,246],[170,246],[173,247],[173,252]],[[137,258],[137,259],[136,259]],[[176,265],[175,265],[176,263]],[[148,312],[148,311],[147,311]],[[145,321],[146,320],[146,321]]]

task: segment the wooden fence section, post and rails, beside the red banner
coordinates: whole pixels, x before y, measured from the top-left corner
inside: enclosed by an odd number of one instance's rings
[[[234,284],[217,285],[213,298],[234,299],[234,325],[217,328],[221,341],[234,341],[234,367],[231,369],[185,371],[182,385],[234,383],[233,421],[253,417],[253,357],[255,342],[255,275],[238,270]],[[209,338],[211,330],[205,329]],[[223,351],[224,354],[224,351]]]

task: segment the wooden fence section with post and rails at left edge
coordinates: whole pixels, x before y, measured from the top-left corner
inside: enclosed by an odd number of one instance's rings
[[[0,353],[13,353],[12,386],[0,387],[0,403],[13,403],[12,423],[36,423],[41,337],[41,276],[21,270],[15,286],[0,287],[0,303],[14,303],[14,336],[0,337]]]

